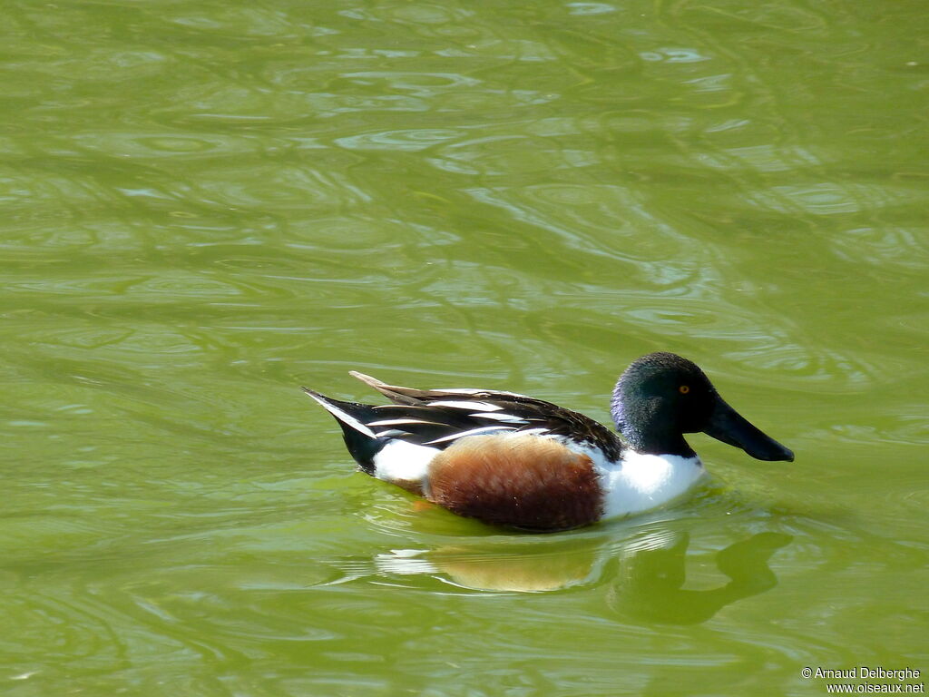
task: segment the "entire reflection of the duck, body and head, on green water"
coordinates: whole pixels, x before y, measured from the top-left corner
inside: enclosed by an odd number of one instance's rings
[[[682,588],[690,536],[665,529],[620,545],[603,544],[602,537],[593,537],[556,544],[520,545],[508,540],[500,546],[394,550],[378,555],[376,566],[391,575],[425,574],[467,588],[521,592],[595,584],[608,566],[615,567],[618,572],[608,592],[614,611],[636,621],[690,625],[777,585],[767,559],[791,539],[782,533],[758,533],[727,546],[716,554],[716,566],[730,581],[709,590]]]

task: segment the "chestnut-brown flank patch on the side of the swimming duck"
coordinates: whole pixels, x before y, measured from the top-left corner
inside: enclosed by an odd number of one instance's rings
[[[471,436],[436,455],[428,498],[492,525],[568,530],[600,518],[590,457],[537,436]]]

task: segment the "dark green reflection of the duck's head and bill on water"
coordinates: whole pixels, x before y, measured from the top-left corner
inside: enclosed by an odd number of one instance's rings
[[[638,621],[697,625],[726,605],[764,593],[778,578],[767,560],[791,535],[758,533],[716,554],[716,568],[729,583],[709,590],[685,590],[685,557],[690,538],[680,535],[668,546],[646,546],[623,560],[608,603],[616,612]]]

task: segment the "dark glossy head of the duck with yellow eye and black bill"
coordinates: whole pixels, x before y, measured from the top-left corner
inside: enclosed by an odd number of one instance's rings
[[[684,434],[702,431],[758,460],[793,460],[789,449],[726,404],[696,363],[674,353],[633,362],[616,383],[610,411],[638,453],[691,456]]]

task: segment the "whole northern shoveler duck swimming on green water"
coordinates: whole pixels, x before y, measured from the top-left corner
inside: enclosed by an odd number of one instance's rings
[[[723,400],[696,363],[665,351],[620,375],[610,399],[616,432],[517,392],[404,388],[349,375],[392,403],[303,390],[334,416],[360,469],[495,527],[554,533],[668,506],[706,475],[687,433],[757,460],[793,461],[791,450]]]

